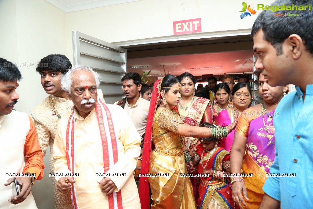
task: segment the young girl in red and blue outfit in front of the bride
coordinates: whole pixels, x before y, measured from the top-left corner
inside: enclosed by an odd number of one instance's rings
[[[209,123],[203,123],[201,126],[214,127]],[[198,174],[209,176],[200,177],[198,206],[200,209],[233,209],[229,177],[224,177],[224,174],[230,172],[229,153],[218,147],[218,138],[199,138],[199,140],[201,144],[198,144],[192,162],[198,165]]]

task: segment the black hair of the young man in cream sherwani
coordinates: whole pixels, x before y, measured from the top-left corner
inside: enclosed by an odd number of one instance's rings
[[[38,73],[59,71],[64,75],[71,68],[72,63],[65,55],[55,54],[42,58],[36,67],[36,71]]]

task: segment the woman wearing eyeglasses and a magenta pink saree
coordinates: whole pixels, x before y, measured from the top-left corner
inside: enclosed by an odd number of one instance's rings
[[[233,123],[234,118],[236,118],[236,113],[239,115],[251,102],[251,87],[246,83],[237,83],[233,87],[233,107],[229,107],[218,114],[214,124],[219,127],[229,125]],[[233,130],[220,140],[218,146],[223,147],[226,151],[230,152],[231,146],[233,144],[235,131]]]

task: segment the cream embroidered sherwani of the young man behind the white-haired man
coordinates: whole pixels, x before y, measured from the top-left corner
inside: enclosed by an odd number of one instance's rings
[[[103,99],[103,94],[100,89],[98,91],[98,97]],[[55,109],[61,115],[61,118],[66,115],[68,112],[73,110],[73,102],[71,100],[66,100],[62,97],[54,97],[50,95]],[[43,150],[44,155],[46,155],[48,146],[50,147],[50,172],[54,173],[54,159],[53,159],[53,143],[55,133],[59,124],[59,118],[56,115],[52,115],[52,103],[50,96],[46,97],[42,102],[40,102],[34,109],[31,111],[31,115],[34,119],[34,123],[38,133],[38,141],[40,148]],[[48,176],[48,175],[47,175]],[[57,191],[56,181],[53,177],[53,189],[54,189],[54,202],[56,209],[71,209],[72,205],[68,204],[71,202],[69,193],[61,195]]]

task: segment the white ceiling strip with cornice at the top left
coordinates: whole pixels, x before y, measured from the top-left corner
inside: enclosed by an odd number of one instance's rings
[[[140,0],[45,0],[64,12],[105,7],[115,4],[136,2]]]

